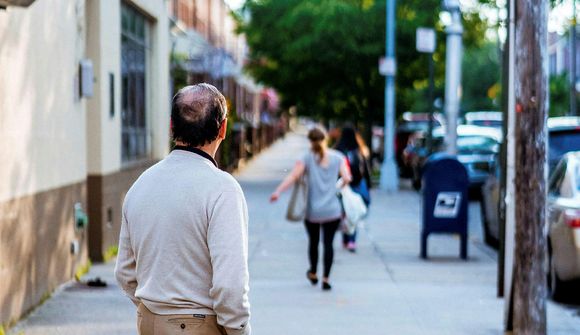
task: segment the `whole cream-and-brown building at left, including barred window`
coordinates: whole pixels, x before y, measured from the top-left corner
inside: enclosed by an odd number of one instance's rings
[[[0,324],[114,254],[125,192],[169,150],[168,22],[157,0],[0,10]]]

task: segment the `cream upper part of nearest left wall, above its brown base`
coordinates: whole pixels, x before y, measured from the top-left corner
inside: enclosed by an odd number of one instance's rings
[[[0,202],[86,178],[84,0],[0,11]]]

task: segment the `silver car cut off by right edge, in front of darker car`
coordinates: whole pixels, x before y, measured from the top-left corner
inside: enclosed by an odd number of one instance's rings
[[[548,184],[548,284],[555,300],[580,279],[580,152],[564,155]]]

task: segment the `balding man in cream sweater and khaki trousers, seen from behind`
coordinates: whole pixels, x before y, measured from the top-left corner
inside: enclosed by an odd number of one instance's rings
[[[209,84],[173,98],[173,151],[145,171],[123,204],[117,280],[141,335],[249,335],[248,210],[215,153],[224,96]]]

